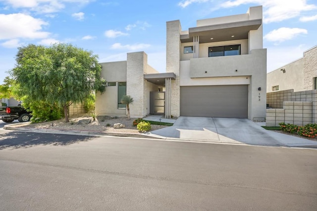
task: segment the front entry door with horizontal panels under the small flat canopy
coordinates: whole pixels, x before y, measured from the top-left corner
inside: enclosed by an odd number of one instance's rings
[[[165,92],[150,92],[150,114],[165,113]]]

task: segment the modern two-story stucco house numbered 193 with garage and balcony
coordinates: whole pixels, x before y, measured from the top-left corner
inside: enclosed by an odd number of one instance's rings
[[[166,22],[166,72],[147,63],[144,52],[126,61],[105,62],[104,94],[96,96],[98,115],[125,116],[122,95],[130,95],[131,117],[147,114],[264,119],[266,49],[262,6],[247,13],[197,20],[183,30]]]

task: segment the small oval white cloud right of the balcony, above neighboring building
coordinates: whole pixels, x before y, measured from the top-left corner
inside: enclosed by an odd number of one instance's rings
[[[308,32],[306,29],[282,27],[282,28],[274,29],[273,31],[270,31],[264,36],[264,39],[271,42],[281,43],[286,40],[292,40],[298,35],[307,34],[307,33]]]

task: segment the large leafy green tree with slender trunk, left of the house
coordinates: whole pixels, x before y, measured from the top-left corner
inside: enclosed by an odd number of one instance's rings
[[[70,105],[106,90],[98,56],[70,44],[21,47],[10,73],[18,85],[18,96],[60,106],[66,122]]]

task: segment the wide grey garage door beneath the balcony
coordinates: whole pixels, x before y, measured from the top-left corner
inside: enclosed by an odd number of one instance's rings
[[[182,86],[180,115],[248,118],[248,85]]]

